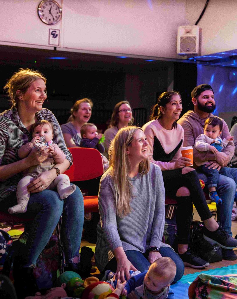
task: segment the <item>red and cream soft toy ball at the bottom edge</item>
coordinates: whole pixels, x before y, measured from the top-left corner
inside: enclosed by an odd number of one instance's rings
[[[103,299],[111,294],[114,288],[105,281],[90,284],[83,292],[82,299]]]

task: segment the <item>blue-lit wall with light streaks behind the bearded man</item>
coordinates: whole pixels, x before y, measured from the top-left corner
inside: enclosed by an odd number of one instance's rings
[[[198,65],[197,85],[210,84],[216,101],[215,115],[224,118],[230,127],[231,119],[237,116],[237,81],[229,80],[230,71],[237,68]]]

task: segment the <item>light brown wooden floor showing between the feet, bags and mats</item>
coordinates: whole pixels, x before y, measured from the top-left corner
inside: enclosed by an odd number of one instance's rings
[[[198,213],[196,212],[196,209],[193,209],[193,212],[194,212],[193,219],[196,221],[200,220],[200,217],[199,217]],[[233,237],[235,237],[237,234],[237,221],[232,221],[231,230],[233,233]],[[95,244],[88,243],[87,241],[82,240],[81,247],[82,246],[95,246]],[[234,251],[237,254],[237,248],[234,249]],[[234,261],[222,260],[221,262],[211,263],[210,266],[206,267],[205,269],[193,269],[190,267],[185,267],[184,274],[186,275],[186,274],[190,274],[190,273],[194,273],[194,272],[201,272],[201,271],[208,270],[208,269],[216,269],[216,268],[226,267],[226,266],[235,265],[235,264],[237,264],[237,260],[234,260]],[[96,271],[96,274],[97,273],[99,273],[98,270]],[[95,272],[94,272],[94,274],[95,274]]]

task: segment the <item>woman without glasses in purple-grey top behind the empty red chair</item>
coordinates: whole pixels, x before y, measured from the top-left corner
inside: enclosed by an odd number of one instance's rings
[[[61,125],[63,137],[67,147],[79,147],[81,142],[80,129],[83,123],[91,118],[93,103],[90,99],[76,101],[71,109],[68,122]]]

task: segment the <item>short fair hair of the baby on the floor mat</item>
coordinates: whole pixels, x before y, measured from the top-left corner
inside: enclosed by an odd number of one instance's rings
[[[176,264],[170,257],[160,257],[152,265],[152,271],[157,277],[165,278],[169,283],[174,281]]]

